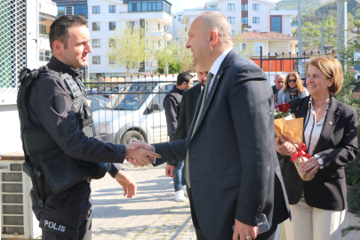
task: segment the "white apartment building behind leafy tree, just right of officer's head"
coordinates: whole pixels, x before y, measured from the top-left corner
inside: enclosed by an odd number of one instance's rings
[[[111,68],[114,63],[107,57],[110,40],[116,28],[141,26],[158,45],[170,41],[171,7],[172,4],[166,0],[89,0],[88,28],[92,37],[92,53],[89,54],[90,77],[119,77],[126,73],[126,68]],[[141,68],[132,69],[132,73],[155,69],[154,62],[146,60]]]

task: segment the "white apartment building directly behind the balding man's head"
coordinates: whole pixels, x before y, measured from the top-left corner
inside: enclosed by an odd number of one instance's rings
[[[172,35],[180,37],[180,28],[188,28],[196,16],[205,11],[221,12],[231,24],[231,34],[240,31],[278,32],[292,36],[292,18],[296,10],[275,10],[274,2],[267,0],[212,0],[204,8],[186,9],[172,13]]]

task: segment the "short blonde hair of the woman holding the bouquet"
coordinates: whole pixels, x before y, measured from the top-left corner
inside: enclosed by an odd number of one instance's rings
[[[344,82],[344,76],[342,73],[342,68],[339,60],[334,59],[333,57],[313,57],[308,60],[305,68],[308,72],[308,65],[312,65],[316,68],[319,68],[320,71],[324,73],[328,78],[333,79],[333,84],[329,87],[329,92],[332,94],[337,94],[340,92],[342,84]]]

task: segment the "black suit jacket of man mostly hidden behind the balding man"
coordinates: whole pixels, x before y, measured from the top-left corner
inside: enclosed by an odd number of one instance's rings
[[[178,116],[178,127],[176,128],[172,140],[183,140],[187,138],[188,130],[190,129],[191,122],[195,115],[196,102],[200,92],[201,84],[196,84],[182,94],[180,113]],[[177,163],[171,163],[170,165],[176,166]]]

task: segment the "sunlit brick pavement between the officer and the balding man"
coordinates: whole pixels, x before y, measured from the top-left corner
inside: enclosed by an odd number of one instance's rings
[[[132,199],[108,174],[92,181],[92,239],[196,239],[188,202],[175,202],[164,165],[124,167],[138,185]]]

